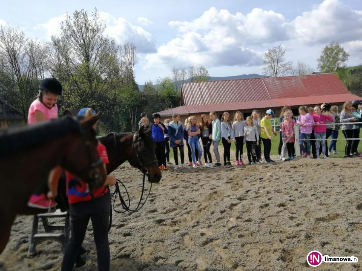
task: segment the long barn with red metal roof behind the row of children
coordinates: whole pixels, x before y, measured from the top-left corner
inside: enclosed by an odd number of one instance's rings
[[[289,105],[299,115],[301,105],[311,107],[328,102],[341,109],[344,102],[354,99],[362,100],[351,94],[334,73],[187,82],[181,86],[181,106],[158,113],[163,120],[178,113],[182,122],[195,115],[199,122],[201,114],[208,115],[210,111],[219,116],[225,111],[231,116],[241,111],[246,118],[254,109],[262,116],[267,109],[278,115],[283,106]]]

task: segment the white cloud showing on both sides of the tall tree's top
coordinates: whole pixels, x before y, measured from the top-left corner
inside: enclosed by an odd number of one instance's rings
[[[106,25],[105,34],[110,38],[114,38],[117,43],[126,41],[134,42],[137,51],[140,53],[150,53],[156,51],[155,40],[152,35],[144,30],[141,26],[132,25],[125,18],[115,18],[107,12],[100,12],[100,19]],[[60,23],[65,20],[66,14],[51,18],[45,24],[39,24],[36,29],[42,28],[46,30],[47,39],[50,40],[51,35],[60,35]]]

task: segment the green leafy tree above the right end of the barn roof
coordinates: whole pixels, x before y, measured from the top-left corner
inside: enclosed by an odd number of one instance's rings
[[[317,59],[320,72],[335,72],[338,68],[345,68],[348,62],[349,54],[344,48],[335,41],[329,43],[322,50],[322,54]]]

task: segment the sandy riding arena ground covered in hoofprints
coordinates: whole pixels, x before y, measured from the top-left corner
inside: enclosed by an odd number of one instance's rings
[[[140,212],[113,212],[111,270],[362,270],[361,165],[359,158],[300,158],[177,172],[172,166]],[[135,207],[141,173],[126,164],[114,174]],[[31,221],[17,218],[0,271],[60,270],[57,242],[43,242],[35,258],[26,258]],[[91,223],[84,247],[87,264],[78,270],[97,270]],[[311,250],[359,262],[312,268]]]

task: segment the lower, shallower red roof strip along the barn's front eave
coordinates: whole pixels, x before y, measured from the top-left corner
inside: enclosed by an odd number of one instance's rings
[[[178,106],[172,109],[158,112],[161,117],[171,116],[174,113],[180,115],[189,115],[197,113],[207,113],[210,111],[235,111],[247,109],[261,109],[261,108],[275,108],[283,107],[285,105],[320,105],[321,103],[340,103],[345,101],[352,101],[354,99],[362,100],[354,94],[337,94],[337,95],[323,95],[323,96],[310,96],[310,97],[297,97],[297,98],[284,98],[284,99],[270,99],[264,101],[252,102],[239,102],[239,103],[218,103],[214,105],[191,105],[191,106]]]

